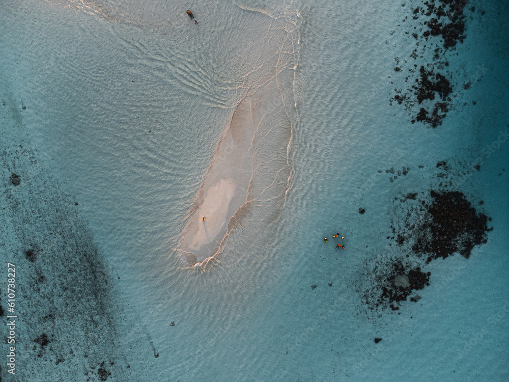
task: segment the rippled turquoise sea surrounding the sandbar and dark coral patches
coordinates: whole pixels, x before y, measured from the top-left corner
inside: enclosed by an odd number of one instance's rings
[[[112,380],[506,379],[507,143],[462,183],[493,218],[488,243],[468,260],[430,264],[432,285],[400,315],[366,313],[360,302],[365,273],[398,251],[385,240],[394,197],[436,187],[438,160],[473,162],[509,123],[507,41],[499,32],[507,6],[476,4],[486,15],[474,13],[465,43],[446,53],[457,106],[431,129],[389,106],[393,89],[404,86],[394,58],[410,62],[414,45],[402,22],[411,4],[401,5],[2,4],[3,176],[18,171],[31,185],[3,190],[3,256],[18,261],[19,282],[29,285],[34,269],[69,269],[74,233],[90,237],[109,280],[107,297],[92,299],[106,301],[110,321],[95,319],[111,328],[99,340],[79,333],[90,327],[87,313],[62,306],[56,328],[45,321],[38,329],[54,331],[55,348],[73,344],[75,355],[62,350],[59,365],[49,350],[35,357],[32,322],[42,318],[30,310],[38,297],[27,289],[21,376],[12,380],[86,380],[105,358],[115,361]],[[267,31],[277,18],[298,26],[291,38],[299,64],[285,84],[298,110],[285,205],[270,224],[260,222],[271,211],[248,216],[210,268],[182,269],[175,248],[185,217],[246,74],[272,54]],[[482,76],[479,66],[487,68]],[[411,171],[393,183],[378,173],[402,166]],[[53,214],[59,208],[73,211],[68,222]],[[59,225],[70,233],[48,253],[54,261],[29,264],[24,240],[43,245],[46,226]],[[341,257],[322,239],[337,231],[346,239]],[[81,278],[63,280],[79,286]],[[83,357],[89,352],[95,358]]]

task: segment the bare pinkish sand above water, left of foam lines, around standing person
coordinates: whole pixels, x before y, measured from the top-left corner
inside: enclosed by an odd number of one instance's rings
[[[236,107],[184,227],[179,250],[186,253],[189,264],[217,253],[230,219],[246,203],[252,177],[251,144],[256,131],[250,110],[249,99]]]

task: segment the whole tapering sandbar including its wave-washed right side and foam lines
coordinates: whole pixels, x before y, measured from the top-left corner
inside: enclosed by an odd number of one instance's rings
[[[260,223],[269,224],[284,204],[291,175],[288,148],[298,120],[294,27],[289,29],[285,18],[267,17],[261,50],[268,53],[257,56],[242,79],[245,94],[224,128],[181,234],[177,250],[186,266],[216,257],[252,208],[263,209]]]

